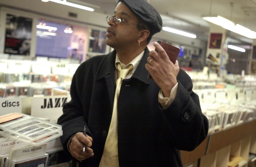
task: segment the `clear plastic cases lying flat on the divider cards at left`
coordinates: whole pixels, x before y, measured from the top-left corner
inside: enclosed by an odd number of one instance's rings
[[[21,113],[0,116],[0,136],[41,145],[62,135],[61,125]]]

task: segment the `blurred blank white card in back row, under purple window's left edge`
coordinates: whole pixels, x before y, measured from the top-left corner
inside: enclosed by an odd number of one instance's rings
[[[32,72],[36,74],[50,74],[51,65],[47,62],[37,61],[31,64]]]

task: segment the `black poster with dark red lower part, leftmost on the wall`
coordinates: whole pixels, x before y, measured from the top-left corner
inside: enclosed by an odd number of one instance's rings
[[[32,18],[6,15],[4,53],[30,55]]]

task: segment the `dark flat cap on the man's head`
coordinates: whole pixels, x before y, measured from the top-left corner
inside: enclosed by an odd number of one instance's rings
[[[119,0],[119,2],[124,3],[140,20],[144,20],[152,35],[161,31],[162,18],[146,0]]]

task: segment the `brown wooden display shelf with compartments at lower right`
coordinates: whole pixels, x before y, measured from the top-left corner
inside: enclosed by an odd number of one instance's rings
[[[256,120],[251,120],[208,134],[194,151],[181,151],[181,158],[184,166],[200,159],[200,167],[228,167],[230,157],[237,156],[243,158],[239,167],[256,167],[255,162],[249,160],[249,152],[255,151]]]

